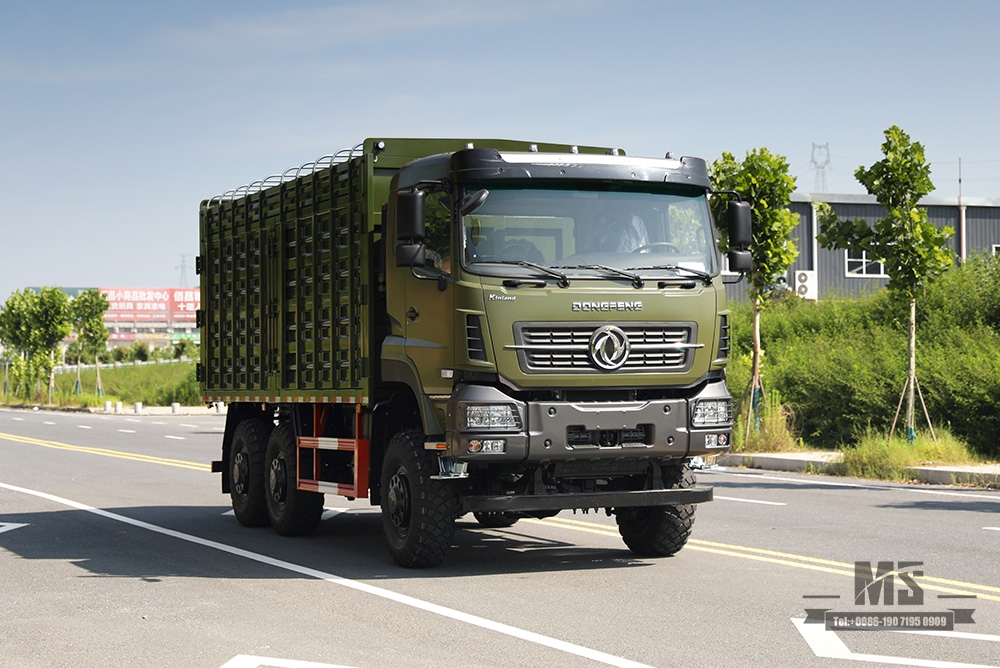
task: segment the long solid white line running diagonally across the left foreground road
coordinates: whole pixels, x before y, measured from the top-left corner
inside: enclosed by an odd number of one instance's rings
[[[371,594],[372,596],[377,596],[379,598],[386,599],[388,601],[393,601],[395,603],[399,603],[400,605],[409,606],[411,608],[416,608],[417,610],[429,612],[434,615],[439,615],[441,617],[446,617],[448,619],[453,619],[455,621],[464,622],[472,626],[477,626],[481,629],[486,629],[488,631],[494,631],[496,633],[508,635],[511,636],[512,638],[525,640],[527,642],[535,643],[536,645],[542,645],[543,647],[548,647],[550,649],[566,652],[567,654],[572,654],[574,656],[580,656],[585,659],[591,659],[592,661],[597,661],[599,663],[603,663],[609,666],[619,666],[620,668],[651,668],[646,664],[638,663],[636,661],[631,661],[629,659],[625,659],[619,656],[614,656],[612,654],[606,654],[604,652],[595,649],[583,647],[582,645],[576,645],[574,643],[566,642],[565,640],[559,640],[558,638],[550,638],[549,636],[545,636],[540,633],[535,633],[534,631],[520,629],[517,628],[516,626],[510,626],[509,624],[504,624],[502,622],[486,619],[485,617],[479,617],[477,615],[469,614],[467,612],[462,612],[460,610],[455,610],[453,608],[448,608],[443,605],[438,605],[436,603],[423,601],[413,596],[407,596],[406,594],[400,594],[364,582],[358,582],[357,580],[350,580],[348,578],[342,577],[340,575],[335,575],[333,573],[326,573],[324,571],[319,571],[314,568],[308,568],[306,566],[301,566],[299,564],[293,564],[290,561],[275,559],[274,557],[269,557],[263,554],[257,554],[256,552],[250,552],[249,550],[233,547],[232,545],[226,545],[225,543],[219,543],[214,540],[208,540],[206,538],[192,536],[191,534],[182,533],[180,531],[175,531],[173,529],[167,529],[161,526],[157,526],[155,524],[150,524],[149,522],[143,522],[142,520],[132,519],[131,517],[118,515],[116,513],[103,510],[101,508],[94,508],[93,506],[88,506],[86,504],[79,503],[77,501],[72,501],[70,499],[64,499],[59,496],[54,496],[46,492],[40,492],[38,490],[33,490],[33,489],[26,489],[24,487],[17,487],[15,485],[8,485],[7,483],[2,483],[2,482],[0,482],[0,488],[12,492],[19,492],[21,494],[29,494],[31,496],[38,497],[40,499],[46,499],[47,501],[51,501],[53,503],[58,503],[63,506],[68,506],[70,508],[75,508],[77,510],[82,510],[84,512],[92,513],[99,517],[104,517],[106,519],[113,520],[115,522],[121,522],[122,524],[128,524],[134,527],[138,527],[140,529],[146,529],[147,531],[152,531],[153,533],[169,536],[170,538],[176,538],[178,540],[183,540],[188,543],[194,543],[195,545],[200,545],[202,547],[218,550],[220,552],[225,552],[227,554],[231,554],[237,557],[243,557],[244,559],[256,561],[257,563],[266,564],[268,566],[273,566],[275,568],[280,568],[282,570],[291,571],[292,573],[298,573],[299,575],[304,575],[306,577],[315,578],[317,580],[323,580],[325,582],[329,582],[330,584],[339,585],[341,587],[347,587],[348,589],[353,589],[355,591],[362,592],[365,594]]]

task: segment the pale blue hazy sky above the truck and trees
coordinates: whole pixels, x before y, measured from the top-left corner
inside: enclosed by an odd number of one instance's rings
[[[196,286],[201,200],[367,137],[766,147],[800,192],[863,194],[898,125],[933,194],[1000,199],[998,24],[994,0],[0,0],[0,304]]]

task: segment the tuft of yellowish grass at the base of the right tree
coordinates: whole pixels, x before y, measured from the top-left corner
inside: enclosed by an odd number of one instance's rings
[[[929,431],[918,431],[916,440],[910,443],[901,436],[890,441],[886,434],[868,427],[855,445],[844,449],[846,475],[900,482],[909,479],[908,469],[915,466],[983,463],[947,430],[937,429],[935,433],[936,443]]]

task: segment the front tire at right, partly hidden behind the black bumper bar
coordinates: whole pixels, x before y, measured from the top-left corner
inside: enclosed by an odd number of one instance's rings
[[[685,466],[664,466],[666,489],[687,489],[695,484],[694,473]],[[618,533],[630,550],[644,557],[669,557],[677,554],[694,528],[695,506],[656,506],[617,508]]]

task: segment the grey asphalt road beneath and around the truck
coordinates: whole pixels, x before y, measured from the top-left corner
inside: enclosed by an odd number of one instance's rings
[[[224,424],[0,410],[0,666],[1000,665],[1000,492],[705,471],[673,558],[563,512],[462,518],[412,571],[367,501],[328,496],[307,538],[241,527],[209,472]],[[923,576],[858,603],[856,562]],[[954,609],[974,623],[934,626]]]

